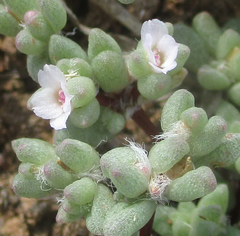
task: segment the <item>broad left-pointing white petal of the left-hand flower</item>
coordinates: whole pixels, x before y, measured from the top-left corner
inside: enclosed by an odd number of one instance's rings
[[[30,98],[31,109],[37,116],[43,119],[52,119],[60,116],[63,110],[57,95],[57,92],[51,88],[37,90]]]

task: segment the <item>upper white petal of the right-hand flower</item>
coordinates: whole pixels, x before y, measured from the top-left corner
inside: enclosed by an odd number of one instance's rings
[[[141,39],[143,45],[147,44],[147,34],[152,36],[152,46],[157,45],[157,42],[166,34],[168,34],[168,29],[166,25],[158,20],[153,19],[149,21],[145,21],[142,25],[141,29]]]

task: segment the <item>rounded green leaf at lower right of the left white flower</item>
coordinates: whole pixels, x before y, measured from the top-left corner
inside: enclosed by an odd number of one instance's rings
[[[100,115],[100,105],[96,98],[83,107],[75,108],[70,114],[70,121],[79,128],[92,126]]]

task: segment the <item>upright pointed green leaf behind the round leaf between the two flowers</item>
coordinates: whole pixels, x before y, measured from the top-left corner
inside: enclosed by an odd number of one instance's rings
[[[92,29],[88,37],[88,57],[90,61],[103,51],[113,51],[121,55],[121,48],[117,42],[101,29]]]

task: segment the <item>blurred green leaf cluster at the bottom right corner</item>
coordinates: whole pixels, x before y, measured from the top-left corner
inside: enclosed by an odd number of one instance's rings
[[[227,205],[227,185],[219,184],[197,205],[192,202],[181,202],[177,208],[158,206],[153,229],[162,236],[234,235],[230,233],[231,229],[226,227]]]

